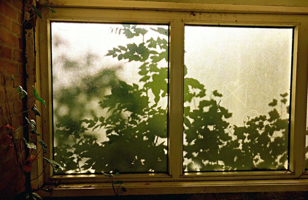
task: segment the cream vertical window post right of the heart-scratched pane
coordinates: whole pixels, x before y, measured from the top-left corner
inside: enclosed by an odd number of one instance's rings
[[[291,112],[291,140],[290,140],[290,170],[298,177],[305,171],[305,134],[306,134],[306,98],[307,96],[307,38],[304,30],[307,25],[301,24],[294,28],[294,60]],[[302,62],[297,62],[297,60]],[[296,86],[296,87],[295,87]],[[300,97],[301,96],[301,97]],[[293,127],[292,127],[293,125]],[[293,162],[293,163],[292,163]]]

